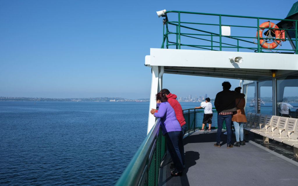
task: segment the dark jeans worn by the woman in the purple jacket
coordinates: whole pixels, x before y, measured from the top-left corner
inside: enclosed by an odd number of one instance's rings
[[[172,131],[165,134],[167,138],[167,148],[170,152],[174,166],[177,171],[183,171],[182,157],[184,157],[183,136],[181,131]]]

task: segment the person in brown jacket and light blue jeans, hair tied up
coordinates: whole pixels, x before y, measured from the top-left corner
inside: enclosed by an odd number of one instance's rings
[[[240,94],[241,87],[235,88],[235,92]],[[245,145],[245,141],[243,140],[243,125],[246,122],[244,107],[245,107],[245,99],[236,98],[236,107],[237,111],[233,113],[232,121],[235,127],[235,136],[236,136],[236,144],[235,147],[240,147],[241,145]],[[240,136],[240,141],[239,141]]]

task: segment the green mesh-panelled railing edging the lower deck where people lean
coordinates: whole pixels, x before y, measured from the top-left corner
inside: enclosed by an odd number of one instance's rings
[[[217,113],[215,108],[212,108],[214,113]],[[183,114],[187,124],[186,132],[190,135],[198,127],[197,120],[202,122],[204,110],[203,109],[184,109]],[[216,115],[216,114],[215,114]],[[214,115],[213,115],[214,117]],[[215,118],[217,115],[215,116]],[[213,121],[213,120],[212,120]],[[160,118],[158,118],[148,133],[147,137],[137,150],[134,157],[125,168],[124,172],[118,179],[116,186],[122,185],[145,185],[157,186],[159,178],[159,168],[167,152],[166,139],[162,136],[160,129]],[[197,124],[196,124],[197,123]],[[213,122],[212,122],[213,123]],[[214,119],[214,125],[217,126],[217,120]],[[217,127],[216,127],[217,128]]]

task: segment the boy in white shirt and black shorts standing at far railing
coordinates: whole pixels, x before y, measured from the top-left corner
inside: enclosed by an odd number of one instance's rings
[[[205,102],[202,102],[200,107],[195,107],[195,108],[196,109],[204,108],[203,124],[202,124],[202,128],[199,130],[204,131],[205,124],[209,124],[209,128],[207,131],[211,131],[211,124],[212,124],[211,119],[213,117],[213,113],[212,113],[212,103],[210,103],[210,98],[206,98]]]

